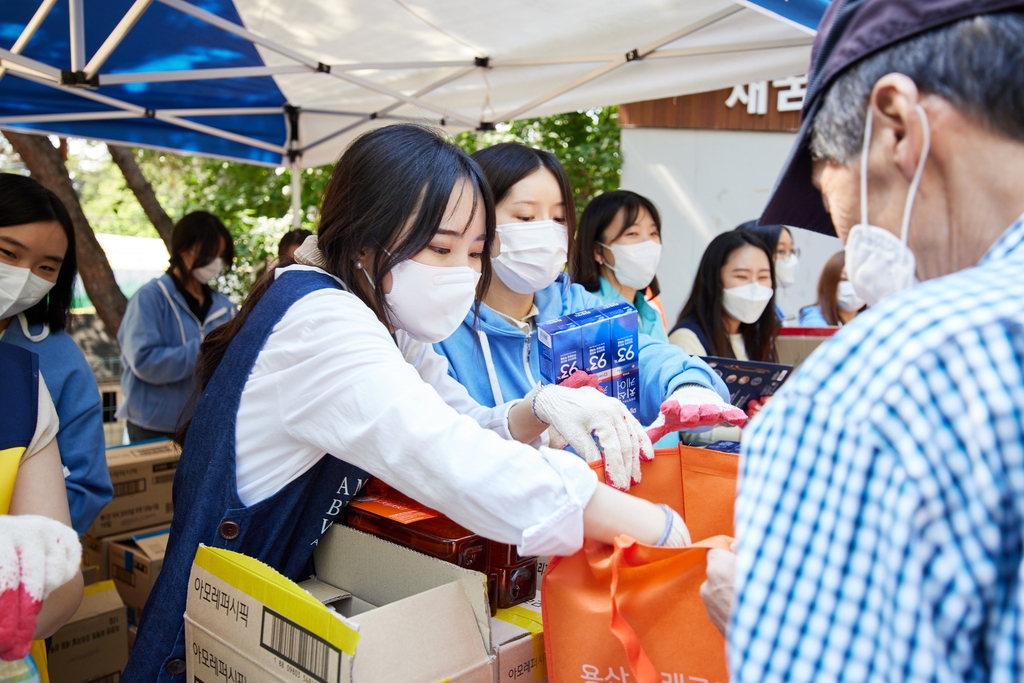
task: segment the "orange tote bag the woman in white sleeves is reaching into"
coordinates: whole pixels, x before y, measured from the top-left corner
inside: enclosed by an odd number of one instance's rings
[[[725,641],[699,590],[708,550],[731,541],[736,463],[734,455],[680,446],[642,465],[630,493],[682,514],[699,540],[693,546],[656,548],[624,536],[552,558],[542,591],[551,683],[728,681]]]

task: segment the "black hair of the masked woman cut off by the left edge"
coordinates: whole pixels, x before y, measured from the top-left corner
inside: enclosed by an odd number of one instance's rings
[[[0,228],[52,221],[63,229],[68,251],[53,288],[42,301],[25,311],[25,317],[32,325],[46,325],[50,332],[60,332],[68,327],[78,275],[75,225],[71,222],[71,214],[60,199],[38,181],[24,175],[0,173]]]

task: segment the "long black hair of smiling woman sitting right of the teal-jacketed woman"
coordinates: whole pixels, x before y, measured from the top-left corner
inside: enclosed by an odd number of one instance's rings
[[[700,257],[700,265],[697,267],[697,276],[693,280],[690,298],[679,313],[679,319],[676,321],[678,327],[688,317],[696,318],[697,324],[708,335],[708,341],[711,342],[712,348],[707,349],[707,351],[712,355],[725,357],[733,355],[729,344],[729,335],[725,331],[723,321],[725,308],[722,305],[722,290],[725,288],[722,285],[722,266],[725,265],[734,251],[746,246],[760,249],[768,257],[772,289],[775,288],[775,261],[771,252],[768,251],[768,246],[746,230],[722,232],[711,241],[703,256]],[[746,347],[746,354],[751,360],[774,362],[777,359],[775,337],[778,335],[778,327],[774,296],[769,299],[757,323],[739,324],[739,334],[743,337],[743,345]]]

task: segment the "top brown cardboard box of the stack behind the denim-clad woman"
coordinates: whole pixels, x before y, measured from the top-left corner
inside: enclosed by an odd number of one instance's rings
[[[171,521],[171,484],[180,455],[168,439],[108,449],[114,498],[100,510],[89,536],[101,539]]]

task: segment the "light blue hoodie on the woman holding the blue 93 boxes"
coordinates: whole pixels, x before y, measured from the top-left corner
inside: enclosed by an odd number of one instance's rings
[[[535,294],[534,303],[538,322],[603,304],[583,286],[571,284],[565,273]],[[481,405],[522,398],[541,380],[537,330],[527,337],[482,303],[479,317],[470,311],[459,329],[434,344],[434,349],[447,358],[449,374]],[[641,334],[640,422],[645,426],[652,423],[660,415],[662,403],[683,384],[706,386],[729,400],[722,378],[703,360],[687,355],[674,344]]]

